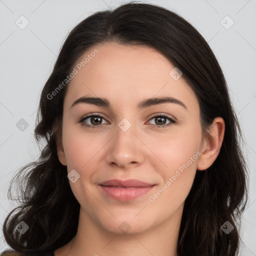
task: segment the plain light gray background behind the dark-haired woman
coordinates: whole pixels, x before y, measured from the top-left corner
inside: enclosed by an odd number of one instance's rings
[[[11,177],[39,155],[32,135],[39,95],[67,33],[91,13],[124,2],[127,1],[0,0],[1,226],[7,213],[16,206],[7,199]],[[241,229],[243,247],[239,254],[256,255],[256,0],[147,2],[174,10],[188,20],[209,43],[224,72],[246,139],[243,150],[250,173],[249,202]],[[21,23],[21,15],[29,21],[24,29],[15,23]],[[234,21],[229,29],[224,26],[232,21],[226,15]],[[28,123],[23,131],[16,127],[21,118]],[[0,235],[2,251],[9,246],[2,231]]]

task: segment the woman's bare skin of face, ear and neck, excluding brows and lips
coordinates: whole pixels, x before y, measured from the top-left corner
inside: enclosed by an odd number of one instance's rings
[[[77,63],[94,48],[98,53],[70,81],[64,98],[58,158],[67,165],[67,172],[75,169],[80,175],[69,183],[81,206],[77,234],[55,250],[55,256],[176,256],[184,200],[196,169],[205,170],[216,159],[224,121],[216,117],[208,135],[202,136],[194,92],[182,76],[174,80],[169,75],[174,65],[156,50],[108,42],[87,50]],[[70,108],[85,94],[104,97],[111,107],[80,103]],[[140,100],[156,96],[172,96],[186,108],[169,102],[136,108]],[[90,113],[104,117],[97,122],[101,126],[89,128],[78,122]],[[152,118],[155,113],[165,113],[177,123],[167,118],[159,123]],[[123,118],[131,124],[126,131],[118,126]],[[91,118],[83,122],[97,125]],[[149,201],[197,151],[197,159],[158,198]],[[122,202],[99,189],[98,183],[113,178],[135,178],[156,186],[146,195]],[[118,228],[123,221],[130,227],[125,234]]]

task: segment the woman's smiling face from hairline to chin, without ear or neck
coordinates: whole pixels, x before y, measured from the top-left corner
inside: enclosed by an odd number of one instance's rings
[[[117,43],[92,47],[77,61],[64,99],[58,155],[72,171],[80,218],[94,226],[135,234],[181,216],[203,139],[196,96],[174,67],[150,47]],[[80,97],[103,98],[109,105],[73,104]],[[109,179],[152,186],[103,186]]]

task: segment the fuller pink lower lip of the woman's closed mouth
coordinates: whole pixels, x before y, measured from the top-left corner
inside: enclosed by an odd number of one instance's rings
[[[109,197],[115,200],[132,201],[142,195],[147,194],[154,187],[154,185],[146,186],[146,187],[123,187],[123,188],[118,188],[116,186],[100,185],[100,187],[103,189],[106,195],[108,195]]]

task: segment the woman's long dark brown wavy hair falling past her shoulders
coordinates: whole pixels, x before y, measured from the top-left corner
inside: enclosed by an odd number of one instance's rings
[[[42,139],[46,144],[39,159],[23,166],[14,176],[8,190],[11,198],[11,187],[16,181],[15,188],[21,195],[20,206],[3,223],[7,244],[17,251],[40,255],[65,245],[76,234],[80,205],[56,150],[68,82],[53,99],[49,95],[86,50],[111,41],[153,47],[182,70],[182,77],[197,96],[203,130],[214,117],[224,119],[219,155],[208,169],[196,171],[185,199],[177,254],[236,255],[240,214],[247,202],[247,165],[241,151],[242,133],[225,78],[209,45],[189,22],[163,7],[137,2],[88,16],[65,39],[42,89],[37,112],[35,138],[37,143]],[[58,124],[56,132],[52,129],[54,123]],[[29,226],[24,234],[15,230],[21,220]],[[229,233],[221,228],[226,221],[234,227]]]

